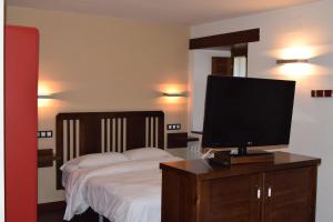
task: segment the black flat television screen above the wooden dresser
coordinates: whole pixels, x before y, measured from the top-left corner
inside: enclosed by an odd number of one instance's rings
[[[294,81],[209,75],[203,148],[289,144]]]

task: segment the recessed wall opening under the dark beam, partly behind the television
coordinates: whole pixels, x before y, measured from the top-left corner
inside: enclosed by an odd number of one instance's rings
[[[248,43],[190,51],[192,131],[203,128],[205,84],[209,74],[248,77]]]

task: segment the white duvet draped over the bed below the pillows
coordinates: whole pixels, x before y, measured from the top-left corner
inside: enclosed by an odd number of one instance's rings
[[[161,221],[160,162],[179,158],[128,161],[93,169],[80,169],[65,179],[64,220],[91,206],[112,222]]]

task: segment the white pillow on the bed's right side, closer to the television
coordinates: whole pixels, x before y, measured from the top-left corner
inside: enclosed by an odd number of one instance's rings
[[[173,157],[169,152],[158,148],[140,148],[123,152],[130,160],[159,160]]]

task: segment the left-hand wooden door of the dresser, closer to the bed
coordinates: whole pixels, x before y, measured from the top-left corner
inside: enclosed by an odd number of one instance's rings
[[[259,222],[262,174],[211,180],[205,219],[209,222]],[[204,204],[204,203],[203,203]]]

